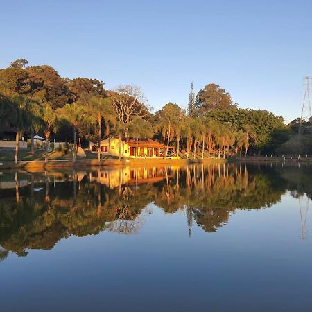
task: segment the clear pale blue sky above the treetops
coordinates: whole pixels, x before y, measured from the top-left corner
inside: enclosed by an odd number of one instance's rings
[[[312,74],[311,0],[4,1],[0,67],[138,85],[155,110],[217,83],[240,107],[300,116]]]

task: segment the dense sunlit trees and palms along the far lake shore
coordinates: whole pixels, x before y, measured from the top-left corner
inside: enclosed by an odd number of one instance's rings
[[[197,95],[191,84],[187,110],[165,103],[153,112],[137,86],[107,90],[96,78],[62,78],[53,67],[28,66],[24,59],[0,69],[0,119],[0,132],[15,128],[17,142],[24,133],[31,137],[31,153],[37,133],[46,141],[73,142],[73,162],[78,141],[87,148],[90,141],[99,144],[113,136],[150,137],[184,150],[187,157],[312,153],[310,123],[304,124],[304,135],[298,136],[297,119],[285,125],[272,112],[241,109],[214,83]]]

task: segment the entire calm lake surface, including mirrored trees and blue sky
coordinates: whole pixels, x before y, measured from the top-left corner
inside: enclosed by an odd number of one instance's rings
[[[3,172],[0,309],[312,311],[311,194],[304,164]]]

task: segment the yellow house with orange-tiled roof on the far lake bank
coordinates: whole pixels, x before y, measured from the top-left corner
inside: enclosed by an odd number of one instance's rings
[[[129,139],[127,141],[121,141],[117,138],[108,138],[101,141],[101,153],[106,155],[119,155],[119,149],[121,148],[122,157],[162,157],[166,146],[152,139],[139,139],[138,144],[135,139]],[[92,152],[96,152],[98,149],[97,144],[91,144]],[[169,150],[173,150],[169,146]],[[136,153],[137,151],[137,153]]]

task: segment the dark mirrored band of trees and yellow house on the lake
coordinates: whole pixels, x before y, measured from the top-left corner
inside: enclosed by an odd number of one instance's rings
[[[227,223],[236,209],[271,207],[290,191],[298,199],[302,239],[312,193],[309,166],[201,164],[0,175],[0,261],[48,250],[70,235],[139,232],[153,203],[185,211],[186,231]]]

